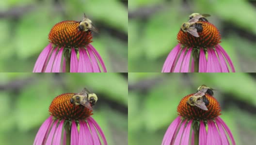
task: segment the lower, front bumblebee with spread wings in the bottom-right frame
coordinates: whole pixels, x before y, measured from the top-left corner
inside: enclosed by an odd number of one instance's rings
[[[202,110],[207,111],[207,106],[209,105],[209,100],[206,98],[205,93],[207,92],[208,88],[202,88],[198,90],[193,96],[191,96],[188,101],[187,105],[196,106]]]

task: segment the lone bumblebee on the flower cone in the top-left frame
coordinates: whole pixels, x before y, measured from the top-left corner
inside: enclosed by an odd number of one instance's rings
[[[78,26],[79,31],[94,31],[98,32],[98,30],[93,26],[92,21],[85,15],[83,14],[83,19],[79,22]]]

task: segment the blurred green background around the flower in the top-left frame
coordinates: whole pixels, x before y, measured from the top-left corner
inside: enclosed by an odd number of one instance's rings
[[[0,72],[32,72],[58,22],[85,13],[108,72],[128,72],[128,0],[0,0]]]

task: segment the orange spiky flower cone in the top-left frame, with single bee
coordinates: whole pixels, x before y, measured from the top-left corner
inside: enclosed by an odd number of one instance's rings
[[[78,21],[62,21],[52,27],[48,39],[51,43],[65,48],[83,47],[92,43],[91,30],[79,31]]]

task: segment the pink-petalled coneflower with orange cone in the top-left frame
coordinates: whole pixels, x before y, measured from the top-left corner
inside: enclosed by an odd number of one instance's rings
[[[83,20],[89,19],[84,17]],[[48,35],[50,43],[37,58],[33,73],[99,73],[100,65],[102,72],[107,72],[99,53],[90,44],[95,28],[89,24],[92,30],[84,31],[79,29],[79,24],[78,21],[62,21],[53,26]]]

